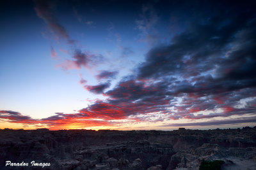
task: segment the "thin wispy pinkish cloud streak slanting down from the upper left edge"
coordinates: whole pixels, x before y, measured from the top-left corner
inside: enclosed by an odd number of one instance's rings
[[[81,68],[88,68],[89,63],[92,66],[95,66],[102,62],[104,57],[102,55],[95,55],[89,50],[86,52],[82,52],[80,48],[77,48],[76,41],[72,38],[70,38],[70,35],[66,31],[65,27],[60,24],[58,18],[56,17],[54,13],[54,4],[52,1],[35,1],[36,6],[35,6],[35,11],[36,14],[38,15],[39,18],[42,18],[44,20],[45,24],[49,28],[49,30],[56,36],[58,39],[66,39],[67,43],[69,45],[72,45],[72,49],[74,50],[74,54],[72,55],[72,59],[64,59],[63,62],[60,64],[57,64],[56,67],[61,67],[65,70],[67,69],[81,69]],[[81,20],[81,17],[77,14],[77,11],[75,8],[73,8],[74,13],[78,17],[78,20]],[[86,22],[87,25],[92,26],[93,22],[88,21]],[[61,48],[61,52],[67,53],[67,50],[63,50]],[[51,46],[51,56],[56,57],[56,51],[54,48]]]

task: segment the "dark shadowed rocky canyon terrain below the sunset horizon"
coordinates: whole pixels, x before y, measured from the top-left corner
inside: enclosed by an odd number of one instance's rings
[[[199,169],[201,162],[211,161],[221,162],[221,169],[256,169],[256,127],[208,131],[4,129],[0,130],[0,150],[0,169]],[[8,160],[28,166],[6,166]],[[31,166],[32,161],[51,166]]]

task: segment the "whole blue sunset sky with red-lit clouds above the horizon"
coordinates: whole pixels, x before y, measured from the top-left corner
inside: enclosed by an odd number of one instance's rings
[[[256,125],[253,1],[0,4],[1,129]]]

